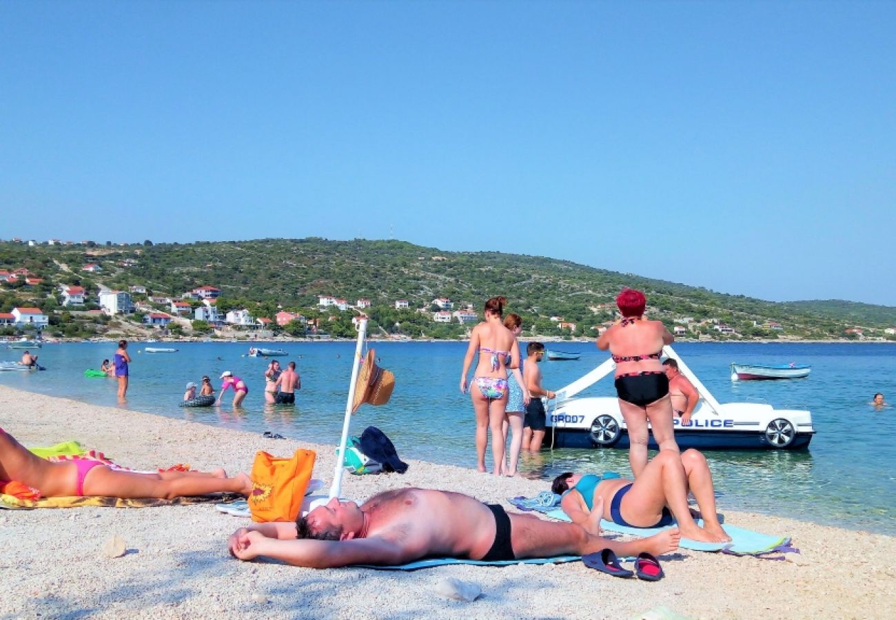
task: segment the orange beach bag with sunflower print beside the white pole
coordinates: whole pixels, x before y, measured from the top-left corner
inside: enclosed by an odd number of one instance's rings
[[[252,493],[248,498],[252,521],[296,521],[316,458],[314,450],[301,448],[291,459],[261,450],[255,452]]]

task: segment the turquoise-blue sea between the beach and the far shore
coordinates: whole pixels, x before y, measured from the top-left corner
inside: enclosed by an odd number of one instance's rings
[[[353,342],[289,342],[271,347],[289,351],[281,363],[297,361],[302,390],[296,407],[263,403],[263,358],[245,357],[247,344],[224,342],[157,343],[175,347],[172,354],[130,347],[131,386],[125,405],[171,418],[262,433],[272,431],[298,441],[338,442],[348,393]],[[466,343],[373,343],[381,365],[396,375],[388,405],[363,407],[352,420],[360,435],[368,425],[392,438],[402,457],[475,466],[474,421],[469,396],[458,390]],[[47,344],[41,373],[0,373],[0,383],[50,396],[97,405],[116,403],[113,379],[88,379],[112,357],[113,343]],[[593,343],[563,343],[556,349],[581,352],[579,361],[545,362],[545,385],[556,389],[604,361]],[[874,392],[896,401],[896,344],[682,343],[676,351],[717,399],[768,402],[778,408],[810,409],[817,431],[803,452],[707,452],[722,510],[764,512],[857,530],[896,535],[896,408],[876,411],[868,402]],[[0,359],[21,351],[0,349]],[[741,382],[729,379],[732,361],[811,364],[805,380]],[[250,393],[244,409],[234,411],[228,392],[220,409],[177,407],[188,381],[210,375],[216,389],[224,370],[241,376]],[[613,395],[605,379],[582,395]],[[3,413],[0,412],[0,426]],[[77,437],[59,437],[77,439]],[[126,455],[117,455],[126,459]],[[189,455],[185,455],[187,458]],[[490,462],[490,453],[487,462]],[[553,478],[569,469],[628,471],[622,450],[546,450],[521,461],[533,478]]]

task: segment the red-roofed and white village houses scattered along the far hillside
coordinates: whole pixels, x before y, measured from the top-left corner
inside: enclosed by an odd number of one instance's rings
[[[22,241],[22,239],[13,238],[12,241],[13,243],[22,243],[30,246],[42,245],[35,240]],[[43,245],[87,245],[92,247],[98,244],[92,241],[74,243],[49,239]],[[128,244],[117,245],[126,246]],[[136,264],[136,259],[125,258],[116,261],[115,266],[116,268],[127,269]],[[70,268],[70,270],[76,271],[73,268]],[[77,268],[77,271],[99,276],[103,273],[103,267],[99,263],[84,263]],[[89,291],[82,286],[70,284],[56,285],[53,282],[46,282],[45,278],[41,277],[41,274],[31,273],[24,267],[10,266],[6,269],[0,269],[0,287],[19,287],[28,291],[41,285],[49,285],[54,291],[60,306],[56,312],[69,312],[75,316],[82,314],[102,315],[118,317],[128,321],[136,319],[137,323],[142,324],[142,326],[149,329],[159,329],[165,335],[168,335],[168,328],[170,327],[177,328],[178,332],[183,332],[184,329],[195,331],[194,328],[201,324],[203,328],[207,327],[207,331],[214,332],[219,336],[227,335],[232,337],[237,332],[254,332],[256,336],[266,337],[271,335],[271,331],[289,328],[287,331],[292,335],[301,334],[325,338],[328,337],[327,320],[333,321],[335,319],[335,316],[327,315],[326,311],[328,309],[351,312],[351,323],[357,329],[358,321],[368,318],[367,311],[373,306],[371,299],[366,297],[360,297],[354,303],[349,303],[349,300],[343,297],[321,295],[318,297],[315,308],[316,314],[320,315],[316,318],[308,318],[304,314],[287,310],[280,310],[280,312],[272,316],[254,316],[246,308],[234,308],[226,313],[220,312],[218,301],[221,296],[221,289],[209,284],[185,290],[179,297],[166,297],[151,295],[149,294],[149,288],[141,285],[130,286],[127,290],[114,290],[100,284],[96,290]],[[478,323],[481,320],[480,314],[478,314],[473,304],[470,302],[455,304],[448,297],[435,297],[431,301],[416,304],[409,301],[409,299],[394,299],[392,300],[392,305],[396,310],[411,311],[415,314],[426,316],[427,320],[432,323],[458,323],[461,326],[469,326],[471,323]],[[614,322],[616,307],[613,304],[601,304],[590,309],[596,316],[602,316],[606,319],[589,327],[588,332],[590,332],[590,335],[597,337],[605,332],[607,327]],[[550,316],[548,319],[555,326],[556,332],[561,335],[564,333],[571,335],[573,332],[576,332],[577,324],[564,321],[562,316]],[[671,323],[670,330],[676,338],[728,340],[744,337],[734,327],[716,318],[697,321],[694,320],[694,317],[675,316],[671,321],[667,317],[664,317],[664,320],[667,324]],[[0,328],[35,329],[41,331],[47,328],[49,323],[49,316],[38,307],[15,306],[11,312],[0,313]],[[787,329],[781,323],[754,321],[753,326],[768,332],[778,332],[782,334],[782,337],[787,337]],[[466,328],[464,331],[469,333],[469,328]],[[717,336],[713,336],[713,333],[717,334]],[[579,334],[581,335],[582,331]],[[845,335],[850,340],[892,340],[896,337],[896,327],[889,327],[883,330],[869,330],[855,326],[847,328]]]

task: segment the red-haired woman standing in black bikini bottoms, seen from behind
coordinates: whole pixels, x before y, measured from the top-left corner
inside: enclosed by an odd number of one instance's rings
[[[675,339],[661,321],[644,319],[647,297],[640,290],[624,288],[616,306],[622,320],[600,335],[598,349],[609,349],[616,362],[616,396],[631,444],[628,461],[637,478],[647,467],[648,421],[659,449],[678,452],[669,382],[659,362],[663,346]]]

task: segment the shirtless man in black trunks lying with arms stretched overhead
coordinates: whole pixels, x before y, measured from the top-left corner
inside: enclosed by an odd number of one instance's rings
[[[295,523],[250,525],[234,532],[230,553],[241,560],[259,555],[296,566],[334,568],[350,564],[407,564],[424,557],[499,561],[554,555],[652,555],[678,548],[678,530],[622,542],[599,537],[599,515],[577,525],[508,514],[469,495],[402,488],[374,495],[364,504],[333,498]]]

